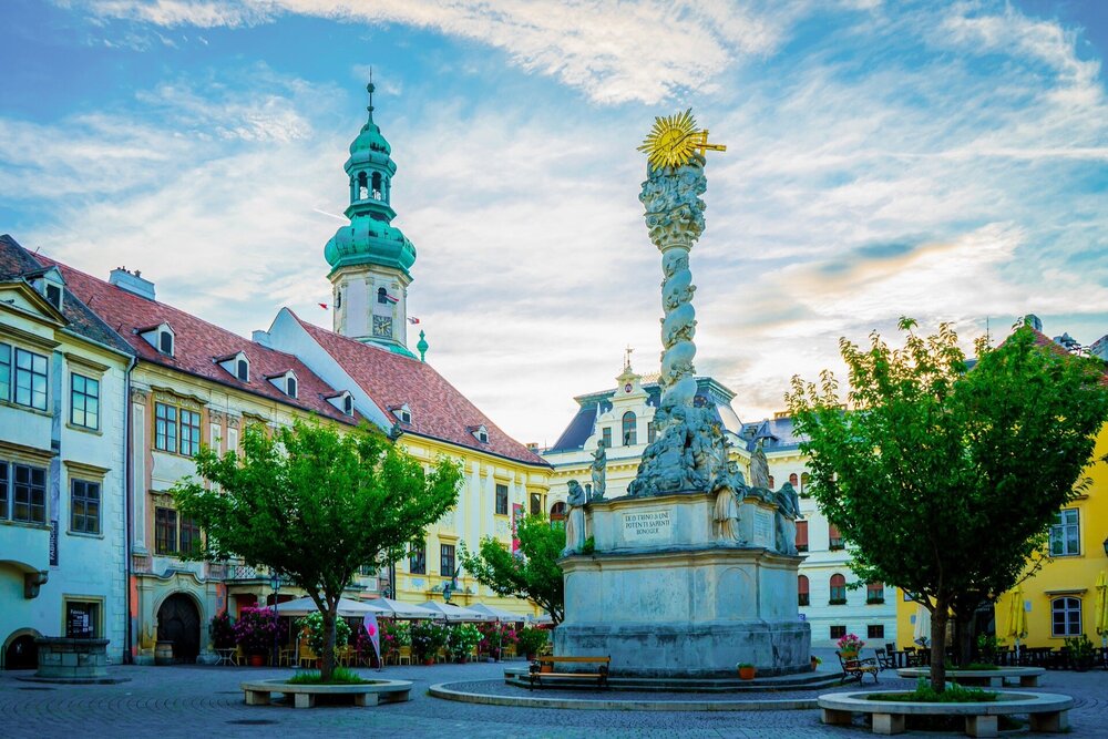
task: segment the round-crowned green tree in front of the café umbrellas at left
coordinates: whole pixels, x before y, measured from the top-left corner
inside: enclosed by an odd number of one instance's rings
[[[322,679],[330,679],[342,589],[362,565],[423,541],[424,528],[456,503],[461,470],[439,460],[424,472],[367,427],[339,433],[297,421],[268,434],[253,425],[240,449],[222,458],[202,449],[201,480],[173,489],[181,514],[206,532],[192,556],[238,556],[307,591],[322,614]]]

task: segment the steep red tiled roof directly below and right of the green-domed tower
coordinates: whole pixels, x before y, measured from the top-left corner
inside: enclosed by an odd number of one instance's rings
[[[501,431],[430,365],[339,336],[308,324],[296,314],[293,317],[387,415],[394,419],[390,409],[408,404],[412,421],[400,424],[403,431],[526,464],[550,466],[543,458]],[[470,432],[479,425],[489,432],[488,443],[481,443]]]

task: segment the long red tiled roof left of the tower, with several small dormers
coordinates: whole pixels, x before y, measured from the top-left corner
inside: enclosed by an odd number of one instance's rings
[[[325,400],[325,397],[334,396],[335,389],[293,355],[263,347],[164,302],[141,298],[41,254],[38,259],[43,264],[57,265],[62,270],[66,288],[115,329],[135,350],[140,360],[213,380],[322,417],[347,423],[357,422],[357,418],[351,419]],[[173,357],[163,355],[138,335],[144,329],[163,322],[173,329]],[[249,382],[243,382],[216,360],[239,351],[250,362]],[[267,376],[283,374],[287,370],[294,370],[299,380],[295,399],[266,379]]]

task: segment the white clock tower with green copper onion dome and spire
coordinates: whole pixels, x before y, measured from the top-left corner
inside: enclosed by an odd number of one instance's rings
[[[366,89],[369,120],[342,167],[350,178],[350,225],[335,232],[324,249],[331,267],[334,329],[411,357],[407,304],[416,247],[391,225],[397,217],[390,204],[397,165],[392,147],[373,123],[373,83]]]

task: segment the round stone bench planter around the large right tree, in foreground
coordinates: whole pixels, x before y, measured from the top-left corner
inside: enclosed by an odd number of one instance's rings
[[[822,720],[831,725],[850,725],[854,714],[873,717],[873,733],[901,733],[909,716],[962,717],[971,737],[995,737],[999,716],[1026,715],[1032,731],[1065,731],[1067,712],[1074,699],[1051,692],[1002,692],[995,701],[971,704],[924,704],[900,700],[870,700],[878,691],[832,692],[819,697]],[[907,695],[909,691],[901,691]],[[881,691],[881,695],[896,695]]]

